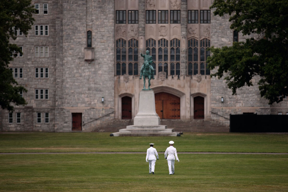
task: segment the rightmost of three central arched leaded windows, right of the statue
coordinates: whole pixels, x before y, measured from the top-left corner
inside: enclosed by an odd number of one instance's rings
[[[170,75],[180,76],[180,40],[170,41]]]

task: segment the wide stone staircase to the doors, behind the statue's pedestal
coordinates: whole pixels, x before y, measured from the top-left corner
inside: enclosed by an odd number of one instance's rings
[[[118,132],[128,125],[133,125],[132,119],[114,119],[103,121],[97,127],[90,128],[86,132]],[[175,132],[229,132],[229,126],[211,119],[161,119],[161,125],[167,125],[167,128],[174,129]]]

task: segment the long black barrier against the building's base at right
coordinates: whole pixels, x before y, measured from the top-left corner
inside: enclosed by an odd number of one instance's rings
[[[231,115],[230,132],[288,132],[288,115]]]

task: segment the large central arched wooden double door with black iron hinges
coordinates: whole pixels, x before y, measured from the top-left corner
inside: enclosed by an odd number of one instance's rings
[[[180,119],[180,97],[165,92],[156,93],[155,107],[160,119]]]

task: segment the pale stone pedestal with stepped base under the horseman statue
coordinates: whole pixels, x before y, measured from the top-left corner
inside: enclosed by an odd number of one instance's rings
[[[142,90],[139,95],[139,112],[134,117],[134,125],[120,129],[110,136],[180,136],[174,129],[160,125],[160,117],[155,109],[153,90]]]

